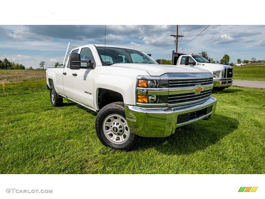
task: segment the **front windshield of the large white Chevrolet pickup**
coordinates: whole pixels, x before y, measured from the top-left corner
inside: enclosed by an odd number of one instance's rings
[[[138,50],[104,46],[98,46],[96,49],[98,50],[103,66],[109,66],[116,63],[157,64],[148,55]]]

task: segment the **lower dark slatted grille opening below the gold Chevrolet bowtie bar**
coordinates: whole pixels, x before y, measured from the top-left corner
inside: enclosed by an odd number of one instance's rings
[[[169,95],[167,98],[168,104],[182,104],[187,102],[193,101],[200,101],[211,96],[211,90],[202,91],[198,94],[192,93],[185,93],[185,94],[176,94],[176,95]]]

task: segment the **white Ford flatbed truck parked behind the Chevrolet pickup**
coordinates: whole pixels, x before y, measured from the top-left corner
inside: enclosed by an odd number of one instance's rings
[[[224,64],[210,63],[200,55],[181,54],[173,51],[172,65],[189,66],[193,68],[203,68],[213,74],[213,84],[215,90],[224,90],[233,84],[233,67]]]

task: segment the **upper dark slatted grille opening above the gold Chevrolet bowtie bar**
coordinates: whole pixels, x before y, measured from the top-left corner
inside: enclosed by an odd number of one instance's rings
[[[195,85],[198,85],[198,84],[207,85],[207,84],[212,84],[212,83],[213,83],[213,79],[212,78],[169,80],[169,88],[195,86]]]

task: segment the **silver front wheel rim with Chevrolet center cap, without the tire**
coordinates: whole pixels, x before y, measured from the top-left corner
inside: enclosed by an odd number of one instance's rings
[[[108,115],[103,121],[102,129],[106,138],[114,144],[126,142],[130,135],[126,120],[117,114]]]

